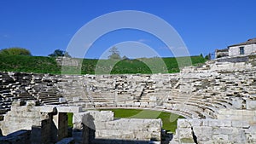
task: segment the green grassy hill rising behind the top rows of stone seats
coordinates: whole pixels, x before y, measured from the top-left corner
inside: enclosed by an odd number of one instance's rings
[[[178,58],[186,60],[185,57]],[[190,57],[193,65],[200,65],[206,59],[201,56]],[[159,60],[163,60],[166,64],[166,72],[179,72],[176,58],[142,58],[137,60],[95,60],[84,59],[82,62],[82,74],[94,74],[96,66],[98,73],[124,74],[124,73],[157,73],[165,72],[164,67],[160,67]],[[97,63],[100,61],[99,63]],[[111,68],[111,65],[113,65]],[[154,72],[151,72],[153,69]],[[186,64],[189,66],[189,64]],[[70,67],[69,67],[70,68]],[[61,74],[61,66],[59,66],[53,57],[44,56],[28,56],[28,55],[0,55],[0,71],[2,72],[35,72],[35,73],[52,73]],[[73,73],[73,68],[70,68]]]

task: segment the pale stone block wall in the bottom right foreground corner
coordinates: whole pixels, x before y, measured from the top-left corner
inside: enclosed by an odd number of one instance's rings
[[[256,126],[241,120],[178,119],[176,135],[170,144],[179,143],[255,143]]]

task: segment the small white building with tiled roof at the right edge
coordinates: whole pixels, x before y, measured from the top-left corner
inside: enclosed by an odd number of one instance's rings
[[[256,38],[249,39],[244,43],[228,46],[229,56],[252,55],[256,53]]]

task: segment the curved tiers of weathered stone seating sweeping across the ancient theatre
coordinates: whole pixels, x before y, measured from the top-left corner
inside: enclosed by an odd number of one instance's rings
[[[219,108],[254,109],[256,67],[247,62],[209,61],[171,74],[47,75],[1,72],[0,112],[11,101],[43,105],[158,108],[186,118],[216,118]],[[26,95],[25,95],[26,94]],[[1,118],[1,117],[0,117]],[[3,117],[2,117],[3,118]]]

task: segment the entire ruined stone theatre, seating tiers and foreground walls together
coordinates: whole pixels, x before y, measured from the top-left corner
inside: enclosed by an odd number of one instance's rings
[[[55,106],[79,107],[81,113],[76,115],[79,118],[78,124],[76,118],[73,118],[74,128],[78,128],[77,136],[73,130],[74,141],[82,141],[79,139],[84,135],[89,139],[87,141],[118,139],[119,143],[124,143],[121,140],[135,138],[138,141],[160,141],[160,120],[111,119],[111,112],[107,112],[109,115],[102,113],[108,115],[102,116],[102,119],[96,116],[96,113],[101,112],[89,112],[91,118],[86,114],[91,108],[121,107],[173,112],[185,117],[186,119],[178,119],[177,132],[170,143],[256,143],[255,55],[211,60],[204,66],[185,67],[179,73],[61,76],[1,72],[0,82],[0,119],[3,120],[3,135],[20,130],[15,122],[18,123],[18,119],[25,115],[33,115],[35,118],[30,123],[32,125],[22,127],[24,130],[34,130],[36,127],[33,125],[42,126],[43,121],[47,124],[44,112],[36,107]],[[15,103],[12,104],[12,101]],[[15,109],[18,105],[20,108]],[[35,107],[29,107],[30,105]],[[35,113],[30,113],[29,109]],[[55,119],[55,112],[48,113],[51,114],[48,114],[49,118],[46,119]],[[62,117],[57,115],[58,118]],[[63,118],[66,117],[64,115]],[[12,118],[17,121],[13,120],[13,124],[8,124],[7,121]],[[87,120],[83,121],[83,118]],[[148,133],[135,133],[132,127],[135,123],[140,125],[135,131],[145,131],[143,124],[150,125]],[[81,129],[83,124],[94,125],[92,128],[95,129]],[[129,126],[132,130],[123,131],[122,128],[126,127],[119,124]],[[99,125],[101,127],[98,127]],[[83,133],[83,130],[90,132]],[[26,131],[22,131],[16,135],[27,136],[25,133]],[[124,137],[114,136],[119,133]],[[31,131],[30,135],[32,134]],[[50,140],[56,141],[59,138],[57,136]]]

